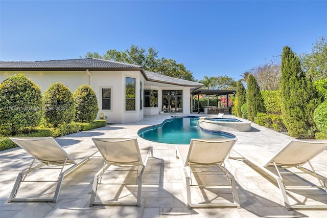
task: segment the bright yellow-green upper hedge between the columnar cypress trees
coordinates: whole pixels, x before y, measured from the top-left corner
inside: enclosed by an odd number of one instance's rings
[[[281,94],[279,90],[261,91],[261,97],[264,100],[264,106],[267,114],[282,114],[281,111]]]

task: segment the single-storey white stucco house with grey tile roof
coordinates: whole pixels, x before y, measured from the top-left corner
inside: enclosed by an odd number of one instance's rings
[[[82,84],[91,85],[99,102],[97,119],[108,123],[138,122],[159,111],[190,114],[191,93],[203,86],[134,64],[97,58],[0,61],[0,82],[18,73],[38,84],[42,93],[54,82],[62,82],[72,93]]]

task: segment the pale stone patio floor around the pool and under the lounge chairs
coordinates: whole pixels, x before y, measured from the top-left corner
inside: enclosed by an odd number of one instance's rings
[[[198,114],[190,115],[198,116]],[[203,114],[200,115],[203,116]],[[149,158],[143,177],[141,207],[89,207],[92,181],[103,165],[103,159],[99,154],[65,177],[57,203],[7,203],[18,173],[26,170],[32,161],[32,157],[27,152],[14,148],[0,153],[0,217],[327,217],[326,209],[288,211],[275,181],[264,177],[261,171],[253,166],[250,167],[246,161],[236,159],[228,159],[226,168],[235,176],[241,208],[188,209],[183,165],[179,159],[175,158],[175,145],[147,141],[137,135],[140,128],[159,124],[171,116],[175,115],[145,116],[141,122],[137,123],[108,125],[56,138],[60,145],[72,152],[75,147],[82,148],[83,145],[93,144],[91,138],[136,137],[139,144],[153,145],[154,158]],[[235,146],[256,145],[275,153],[292,139],[254,123],[251,126],[251,132],[229,132],[238,138]],[[235,153],[231,152],[232,155]],[[327,150],[315,157],[312,164],[319,175],[327,178]],[[310,182],[317,184],[317,181],[311,181],[311,179],[309,178]],[[37,193],[32,187],[33,185],[26,187],[25,190],[21,189],[28,193]],[[114,191],[110,189],[110,193]],[[315,199],[320,204],[327,204],[325,192],[318,191],[318,195],[314,196],[305,194],[304,197],[297,197],[294,195],[291,203],[311,204],[312,199]],[[121,194],[126,194],[125,198],[132,198],[133,193],[133,191],[126,190],[121,192]],[[204,201],[203,195],[207,195],[206,198],[215,198],[206,190],[195,192],[194,200]]]

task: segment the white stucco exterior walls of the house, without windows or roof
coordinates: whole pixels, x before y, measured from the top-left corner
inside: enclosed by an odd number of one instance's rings
[[[49,88],[54,82],[62,82],[66,85],[71,92],[82,84],[88,84],[92,86],[92,89],[96,92],[96,96],[99,102],[99,112],[97,119],[100,119],[100,113],[104,114],[104,119],[108,123],[130,123],[139,122],[144,118],[144,114],[150,115],[158,114],[162,108],[162,90],[183,90],[183,102],[182,113],[190,113],[190,88],[184,86],[176,86],[164,83],[153,82],[152,89],[158,90],[158,108],[156,110],[147,111],[148,108],[140,110],[140,81],[144,89],[151,89],[149,85],[145,84],[145,78],[140,71],[89,71],[90,76],[86,71],[0,71],[0,82],[5,80],[8,76],[14,74],[23,73],[30,78],[31,81],[40,86],[42,94]],[[125,78],[135,78],[135,111],[125,110]],[[157,85],[156,85],[157,84]],[[111,89],[111,109],[102,110],[102,88]],[[144,102],[144,91],[142,91],[142,104]]]

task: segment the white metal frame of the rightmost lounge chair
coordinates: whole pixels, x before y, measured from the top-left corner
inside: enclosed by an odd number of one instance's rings
[[[275,158],[277,158],[279,155],[281,155],[283,153],[283,151],[285,149],[287,149],[289,146],[291,146],[293,143],[296,142],[301,142],[301,143],[308,143],[308,146],[311,144],[325,144],[325,147],[321,147],[320,149],[318,149],[314,155],[312,155],[311,157],[308,157],[307,160],[302,161],[300,163],[295,163],[295,164],[283,164],[281,162],[275,162]],[[247,149],[251,150],[252,154],[265,154],[264,156],[266,156],[267,152],[266,150],[258,147],[258,146],[246,146]],[[327,148],[327,140],[291,140],[285,147],[283,147],[280,151],[277,152],[276,155],[274,155],[271,160],[269,160],[266,164],[261,164],[258,162],[258,160],[254,160],[251,155],[246,154],[246,152],[244,152],[243,149],[240,148],[233,148],[233,150],[235,152],[237,152],[237,154],[239,154],[240,157],[230,157],[233,159],[245,159],[247,161],[249,161],[250,163],[254,164],[256,167],[258,167],[261,171],[267,173],[270,177],[274,178],[278,184],[279,190],[281,190],[282,193],[282,197],[283,197],[283,201],[284,201],[284,205],[286,207],[287,210],[296,210],[296,209],[327,209],[327,205],[290,205],[289,199],[288,199],[288,194],[287,194],[287,190],[288,189],[292,189],[292,188],[296,188],[296,189],[308,189],[308,188],[323,188],[324,191],[327,193],[327,186],[326,186],[326,179],[319,176],[314,167],[312,166],[312,164],[310,163],[310,160],[317,156],[318,154],[320,154],[320,152],[322,152],[323,150],[325,150]],[[308,163],[311,170],[310,169],[306,169],[303,168],[302,165]],[[288,168],[292,168],[295,167],[299,170],[301,170],[301,172],[291,172],[291,171],[287,171],[287,172],[282,172],[281,170],[283,169],[288,169]],[[271,169],[275,169],[277,172],[277,175],[271,171]],[[287,186],[286,183],[284,182],[283,179],[283,175],[300,175],[300,174],[308,174],[311,175],[313,177],[315,177],[320,186]]]

